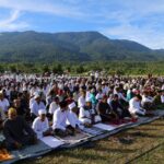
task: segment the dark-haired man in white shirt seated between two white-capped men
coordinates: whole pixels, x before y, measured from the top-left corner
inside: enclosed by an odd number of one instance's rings
[[[74,127],[71,125],[71,120],[69,117],[68,104],[66,101],[59,103],[59,108],[55,110],[52,117],[52,130],[56,136],[66,137],[66,136],[73,136],[74,134]],[[67,125],[67,121],[70,125]]]

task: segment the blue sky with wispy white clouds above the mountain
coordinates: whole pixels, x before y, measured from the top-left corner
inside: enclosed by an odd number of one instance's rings
[[[164,0],[0,0],[0,32],[97,31],[164,48]]]

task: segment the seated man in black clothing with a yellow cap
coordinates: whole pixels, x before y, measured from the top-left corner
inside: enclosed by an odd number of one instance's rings
[[[10,108],[4,121],[3,133],[9,150],[21,149],[23,145],[35,144],[36,133],[23,117],[17,116],[15,108]]]

